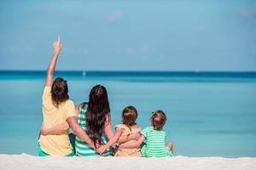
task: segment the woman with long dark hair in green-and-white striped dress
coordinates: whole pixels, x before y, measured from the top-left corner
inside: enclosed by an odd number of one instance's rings
[[[91,88],[89,102],[79,105],[77,115],[79,126],[89,135],[93,146],[77,135],[75,142],[76,156],[99,156],[100,154],[95,150],[96,146],[106,144],[114,136],[106,88],[102,85]],[[49,129],[43,128],[41,132],[49,134],[58,133],[59,130],[61,130],[61,126]],[[122,136],[119,138],[119,143],[137,139],[139,136],[138,133]],[[112,150],[107,150],[102,156],[112,156]]]

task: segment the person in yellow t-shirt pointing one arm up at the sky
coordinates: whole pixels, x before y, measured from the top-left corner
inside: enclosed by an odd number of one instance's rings
[[[58,77],[53,81],[55,65],[61,52],[61,39],[53,44],[54,54],[49,63],[43,94],[43,127],[56,127],[55,134],[41,133],[38,140],[39,156],[73,156],[68,139],[68,127],[73,128],[79,138],[94,147],[84,130],[79,127],[73,101],[69,99],[67,81]],[[67,124],[68,123],[68,124]],[[69,125],[69,126],[68,126]]]

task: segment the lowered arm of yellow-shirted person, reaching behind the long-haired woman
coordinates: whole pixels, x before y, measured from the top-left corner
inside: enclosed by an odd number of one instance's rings
[[[73,129],[73,132],[79,137],[79,139],[89,144],[90,147],[95,148],[89,136],[84,132],[81,127],[79,127],[78,118],[76,116],[67,117],[67,122],[69,127]]]

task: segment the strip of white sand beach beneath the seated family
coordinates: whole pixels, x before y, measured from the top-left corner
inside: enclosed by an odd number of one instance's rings
[[[0,155],[0,169],[61,169],[61,170],[102,170],[102,169],[196,169],[196,170],[253,170],[256,169],[256,157],[223,158],[223,157],[185,157],[165,158],[135,157],[57,157]]]

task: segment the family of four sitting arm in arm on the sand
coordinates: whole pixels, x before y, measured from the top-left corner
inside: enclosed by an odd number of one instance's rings
[[[89,101],[75,108],[68,96],[67,81],[61,77],[53,80],[60,37],[53,48],[44,84],[38,156],[173,156],[172,143],[165,142],[163,111],[153,111],[151,126],[142,130],[136,123],[136,108],[127,106],[113,133],[108,92],[102,85],[91,88]],[[69,128],[74,134],[68,134]]]

